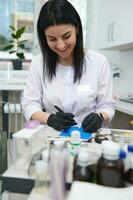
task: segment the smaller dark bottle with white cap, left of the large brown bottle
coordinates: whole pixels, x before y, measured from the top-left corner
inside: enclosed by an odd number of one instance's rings
[[[74,181],[93,181],[93,171],[90,168],[91,160],[89,153],[86,150],[82,150],[78,153],[76,163],[73,169]]]

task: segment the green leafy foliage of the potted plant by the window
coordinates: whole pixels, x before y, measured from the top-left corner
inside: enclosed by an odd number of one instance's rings
[[[25,59],[23,50],[26,50],[26,42],[28,40],[21,40],[23,33],[25,32],[25,26],[16,29],[10,25],[9,30],[11,33],[11,40],[8,41],[8,45],[3,48],[4,51],[9,51],[9,54],[16,53],[19,59]]]

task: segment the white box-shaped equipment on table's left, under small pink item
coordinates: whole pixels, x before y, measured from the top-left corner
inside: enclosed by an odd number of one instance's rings
[[[13,134],[13,161],[15,168],[28,170],[33,157],[38,156],[45,146],[44,126],[24,128]]]

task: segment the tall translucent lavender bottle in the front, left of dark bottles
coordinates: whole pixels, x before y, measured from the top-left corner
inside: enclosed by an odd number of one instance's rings
[[[50,199],[63,200],[66,193],[67,151],[64,141],[57,140],[50,150]]]

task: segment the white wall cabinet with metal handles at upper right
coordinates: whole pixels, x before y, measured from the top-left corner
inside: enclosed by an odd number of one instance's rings
[[[133,0],[100,0],[99,49],[133,48]]]

